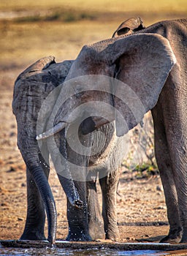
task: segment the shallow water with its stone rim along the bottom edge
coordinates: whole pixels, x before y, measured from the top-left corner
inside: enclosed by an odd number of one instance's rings
[[[187,244],[1,240],[1,255],[187,255]]]

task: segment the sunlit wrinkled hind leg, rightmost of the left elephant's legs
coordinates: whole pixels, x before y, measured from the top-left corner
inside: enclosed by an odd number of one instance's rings
[[[102,188],[102,216],[104,219],[105,238],[117,240],[119,235],[116,218],[116,191],[118,187],[119,170],[99,178]]]

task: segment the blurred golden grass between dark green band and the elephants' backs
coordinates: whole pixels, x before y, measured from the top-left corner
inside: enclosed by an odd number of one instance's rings
[[[85,42],[111,37],[114,31],[112,25],[91,21],[0,23],[0,29],[1,68],[20,67],[47,55],[56,56],[57,61],[75,59]]]

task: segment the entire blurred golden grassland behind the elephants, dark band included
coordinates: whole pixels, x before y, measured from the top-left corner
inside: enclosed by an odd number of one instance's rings
[[[56,56],[57,61],[75,59],[83,45],[111,37],[123,20],[140,16],[148,26],[159,20],[183,18],[187,2],[3,0],[0,10],[5,14],[25,13],[19,21],[0,20],[0,67],[7,69],[24,68],[47,55]]]

